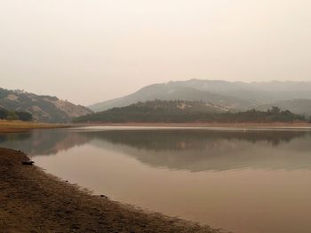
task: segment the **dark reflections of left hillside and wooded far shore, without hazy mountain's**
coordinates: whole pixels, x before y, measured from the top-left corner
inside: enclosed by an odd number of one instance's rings
[[[71,131],[35,130],[32,132],[2,134],[0,146],[25,151],[30,155],[54,154],[92,139],[113,144],[127,144],[138,149],[154,151],[183,151],[215,146],[219,139],[228,142],[246,141],[256,144],[267,142],[278,145],[289,143],[296,137],[309,134],[303,131],[210,131],[210,130],[116,130],[116,131]]]

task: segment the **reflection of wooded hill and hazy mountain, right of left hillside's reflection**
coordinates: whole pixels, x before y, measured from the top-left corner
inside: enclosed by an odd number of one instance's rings
[[[93,132],[92,136],[97,139],[92,144],[123,151],[153,167],[311,169],[307,132],[155,130]]]

